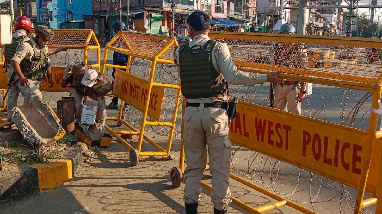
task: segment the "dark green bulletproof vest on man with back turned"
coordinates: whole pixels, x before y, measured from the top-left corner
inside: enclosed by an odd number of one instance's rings
[[[180,46],[179,64],[182,94],[188,99],[228,96],[228,83],[214,68],[211,52],[216,41],[203,46]]]

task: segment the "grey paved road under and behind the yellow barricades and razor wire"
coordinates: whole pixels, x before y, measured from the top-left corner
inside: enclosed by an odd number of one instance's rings
[[[66,56],[67,58],[62,59],[62,62],[68,62],[70,59],[76,58],[76,54],[80,53],[70,53],[70,55]],[[111,54],[109,54],[108,60],[110,62]],[[134,65],[133,70],[138,68],[141,70],[138,75],[144,77],[146,64],[144,62],[139,63],[137,62]],[[161,71],[164,73],[168,69],[163,68]],[[110,70],[106,75],[111,78]],[[157,79],[161,79],[160,75],[157,76]],[[165,81],[170,80],[171,78],[167,78]],[[241,99],[267,105],[267,102],[269,102],[267,101],[268,91],[269,86],[267,85],[249,88],[233,87],[232,94],[238,92]],[[314,85],[313,94],[303,103],[303,114],[315,115],[322,120],[341,123],[341,121],[346,120],[348,115],[351,116],[351,110],[364,94],[362,91]],[[57,100],[62,96],[67,96],[67,94],[46,92],[44,96],[45,101],[54,108]],[[332,97],[334,97],[333,100]],[[110,98],[108,98],[107,104],[109,100]],[[22,99],[19,99],[19,103],[22,103]],[[344,104],[346,104],[346,107]],[[320,111],[323,106],[325,106],[324,110]],[[362,110],[366,112],[369,106],[370,99],[365,102]],[[171,112],[167,112],[167,115],[171,115]],[[108,116],[117,116],[117,110],[109,110]],[[135,112],[130,112],[129,115],[126,113],[127,116],[136,117]],[[362,119],[362,113],[359,113],[356,118],[359,121],[356,127],[367,129],[368,114],[366,114],[364,120]],[[136,117],[136,121],[139,122],[139,116]],[[166,142],[166,138],[163,136],[155,134],[148,134],[148,136],[155,142],[161,142],[161,145]],[[179,150],[179,140],[179,137],[174,140],[173,151],[175,152],[173,153],[175,157],[179,157],[179,152],[176,152]],[[136,139],[133,142],[135,141]],[[144,144],[143,150],[153,150],[153,148]],[[65,185],[55,190],[42,193],[4,210],[3,213],[184,213],[181,199],[184,185],[175,189],[169,180],[170,169],[178,165],[178,159],[170,161],[148,158],[141,161],[138,166],[131,167],[128,161],[127,148],[118,142],[114,142],[111,148],[96,151],[96,154],[97,156],[94,158],[85,158],[84,166],[75,179],[66,182]],[[348,213],[349,207],[353,206],[350,197],[354,198],[355,194],[352,188],[348,188],[348,196],[341,198],[339,190],[343,190],[343,187],[327,179],[321,181],[313,178],[311,180],[310,173],[306,171],[300,172],[298,168],[288,164],[280,164],[276,167],[276,171],[272,171],[274,160],[272,161],[263,155],[257,155],[245,149],[242,149],[238,156],[238,160],[232,166],[232,172],[238,175],[241,173],[248,174],[248,169],[250,169],[250,174],[253,174],[251,179],[256,179],[256,181],[253,180],[254,182],[263,183],[284,196],[294,193],[289,197],[292,200],[303,202],[302,204],[308,208],[312,208],[309,201],[313,200],[313,207],[318,213],[340,213],[340,202]],[[277,171],[278,169],[279,171]],[[261,173],[259,173],[260,171]],[[270,171],[272,173],[269,173]],[[209,179],[209,173],[206,172],[206,174],[204,179]],[[206,180],[206,182],[209,182],[209,180]],[[269,186],[269,184],[273,184],[273,186]],[[240,198],[251,206],[260,206],[274,201],[235,181],[231,181],[231,187],[233,196]],[[199,213],[211,213],[212,211],[212,204],[208,194],[208,192],[202,194]],[[350,205],[348,205],[348,202]],[[373,208],[371,208],[372,211]],[[232,205],[230,213],[246,212]],[[269,213],[295,212],[285,207]]]

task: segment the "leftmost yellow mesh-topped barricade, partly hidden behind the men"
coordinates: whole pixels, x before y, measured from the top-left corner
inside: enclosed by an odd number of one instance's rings
[[[47,80],[42,80],[40,90],[41,91],[51,91],[51,92],[69,92],[69,88],[62,88],[60,86],[60,81],[63,78],[63,71],[66,67],[66,63],[68,61],[83,61],[85,64],[93,67],[94,69],[100,70],[101,62],[100,62],[100,45],[95,37],[93,30],[71,30],[71,29],[55,29],[55,36],[51,41],[49,41],[48,47],[50,50],[62,48],[67,46],[71,50],[82,50],[83,59],[76,59],[78,53],[71,53],[70,51],[62,53],[57,53],[50,56],[50,63],[52,65],[52,78],[54,81],[53,88],[49,88],[49,83]],[[33,36],[34,32],[32,31],[29,36]],[[3,68],[5,57],[3,54],[3,45],[2,48],[2,61],[0,62],[0,90],[2,91],[2,96],[5,95],[6,89],[8,89],[8,77],[5,68]],[[88,61],[88,51],[95,50],[96,51],[96,59],[94,62],[89,63]],[[68,61],[65,61],[68,59]],[[3,97],[3,106],[0,108],[0,111],[6,109],[6,100]]]

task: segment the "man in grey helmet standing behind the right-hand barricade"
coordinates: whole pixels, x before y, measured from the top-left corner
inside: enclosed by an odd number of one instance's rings
[[[280,26],[280,34],[294,34],[295,27],[291,24]],[[303,45],[296,43],[280,43],[274,49],[274,64],[284,67],[308,69],[308,54]],[[306,95],[307,84],[294,80],[286,80],[274,85],[274,107],[301,114],[301,102]],[[272,102],[272,101],[271,101]],[[273,103],[273,102],[272,102]]]

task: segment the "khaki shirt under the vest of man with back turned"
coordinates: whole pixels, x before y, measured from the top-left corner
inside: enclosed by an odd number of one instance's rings
[[[194,39],[188,43],[189,47],[194,45],[203,46],[210,38],[206,35],[196,35]],[[211,61],[217,72],[222,73],[225,80],[232,85],[256,85],[263,84],[268,76],[266,74],[259,75],[257,73],[249,73],[238,70],[236,65],[233,64],[230,50],[225,43],[217,42],[211,52]],[[178,65],[179,72],[179,47],[176,48],[174,60]],[[197,62],[196,62],[197,63]],[[227,101],[228,97],[209,97],[201,99],[186,99],[190,103],[209,103],[216,101]]]

